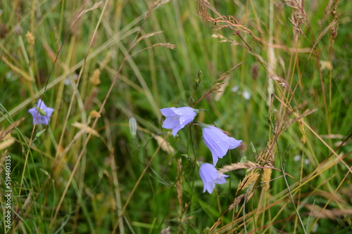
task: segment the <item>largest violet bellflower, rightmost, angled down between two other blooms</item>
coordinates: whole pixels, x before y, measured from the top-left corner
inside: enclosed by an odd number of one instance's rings
[[[237,141],[235,138],[227,136],[221,129],[216,126],[201,124],[203,129],[203,140],[208,146],[213,155],[213,165],[218,162],[218,158],[226,155],[227,150],[232,150],[241,145],[242,141]]]

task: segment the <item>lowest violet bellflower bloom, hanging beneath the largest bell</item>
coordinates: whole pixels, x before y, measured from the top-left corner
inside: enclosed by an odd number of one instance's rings
[[[215,188],[215,183],[222,184],[226,183],[225,177],[229,177],[227,175],[218,174],[218,170],[212,164],[203,163],[201,164],[201,168],[199,169],[199,175],[201,176],[201,180],[204,183],[203,193],[208,191],[208,193],[213,193]]]

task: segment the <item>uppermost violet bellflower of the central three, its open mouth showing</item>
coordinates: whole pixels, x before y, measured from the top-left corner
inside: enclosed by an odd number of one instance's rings
[[[177,131],[183,129],[186,124],[193,121],[199,110],[183,107],[183,108],[163,108],[160,110],[166,119],[163,128],[172,129],[172,134],[176,136]]]

